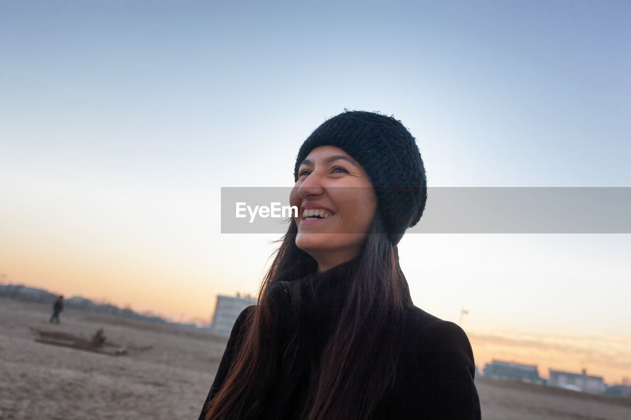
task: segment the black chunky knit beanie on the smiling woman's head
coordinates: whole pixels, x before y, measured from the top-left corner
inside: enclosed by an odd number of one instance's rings
[[[427,201],[425,166],[416,141],[400,121],[365,111],[347,111],[326,120],[300,146],[294,168],[319,146],[336,146],[358,161],[377,194],[377,208],[396,245],[416,225]]]

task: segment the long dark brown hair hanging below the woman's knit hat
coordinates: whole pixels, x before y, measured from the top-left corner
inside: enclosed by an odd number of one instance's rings
[[[262,281],[259,304],[246,320],[249,328],[239,354],[223,386],[209,402],[206,420],[257,419],[262,415],[269,383],[280,373],[281,343],[274,338],[276,322],[270,291],[279,281],[300,279],[317,271],[317,262],[296,246],[296,233],[292,219]],[[386,234],[377,211],[339,319],[310,382],[302,418],[365,419],[374,412],[394,385],[401,324],[410,304],[396,245]]]

